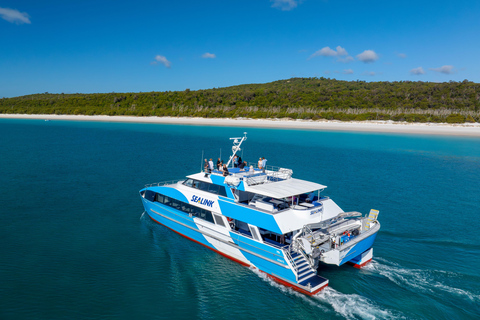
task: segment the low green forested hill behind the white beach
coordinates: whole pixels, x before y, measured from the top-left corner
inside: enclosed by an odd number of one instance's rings
[[[480,84],[292,78],[207,90],[0,99],[0,113],[480,122]]]

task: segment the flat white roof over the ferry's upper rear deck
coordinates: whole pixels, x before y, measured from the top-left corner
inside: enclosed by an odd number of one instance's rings
[[[327,186],[315,182],[291,178],[284,181],[258,184],[255,186],[245,186],[245,191],[258,193],[267,197],[282,199],[302,193],[325,189],[326,187]]]

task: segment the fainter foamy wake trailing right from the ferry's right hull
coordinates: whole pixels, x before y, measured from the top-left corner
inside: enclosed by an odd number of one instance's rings
[[[480,302],[480,294],[460,289],[447,284],[448,281],[459,278],[455,272],[443,270],[408,269],[386,259],[376,258],[363,267],[363,270],[378,273],[396,285],[411,289],[414,292],[431,293],[437,295],[439,291],[462,297],[471,302]]]

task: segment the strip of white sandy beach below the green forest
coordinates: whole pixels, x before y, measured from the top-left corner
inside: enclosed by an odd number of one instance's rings
[[[319,131],[376,132],[480,137],[480,123],[410,123],[394,121],[287,120],[245,118],[188,118],[188,117],[135,117],[85,116],[55,114],[0,114],[0,119],[36,119],[61,121],[131,122],[157,124],[183,124],[198,126],[301,129]]]

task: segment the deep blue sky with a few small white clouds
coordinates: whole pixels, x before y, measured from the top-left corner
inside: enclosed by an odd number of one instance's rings
[[[480,0],[0,0],[0,98],[480,82]]]

